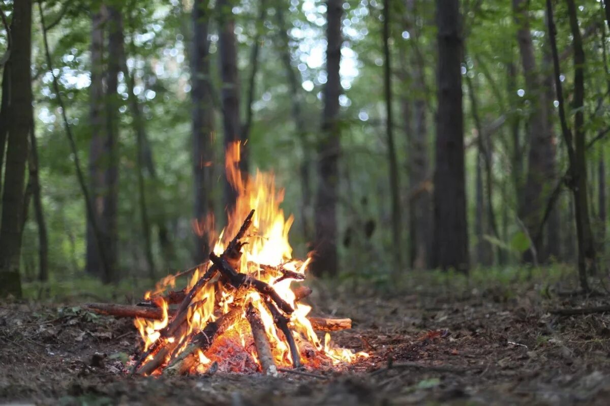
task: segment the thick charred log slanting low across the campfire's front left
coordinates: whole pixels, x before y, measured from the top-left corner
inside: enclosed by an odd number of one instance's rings
[[[209,347],[212,346],[213,341],[229,329],[229,327],[237,321],[241,313],[242,310],[240,308],[234,308],[228,313],[220,316],[216,321],[207,323],[206,328],[193,337],[192,342],[187,345],[184,351],[182,351],[178,357],[174,358],[174,360],[170,361],[170,365],[163,370],[163,373],[168,375],[187,374],[198,361],[195,352],[198,349],[201,351],[209,349]]]

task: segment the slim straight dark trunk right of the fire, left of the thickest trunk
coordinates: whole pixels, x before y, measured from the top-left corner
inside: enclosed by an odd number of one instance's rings
[[[389,187],[390,200],[392,201],[392,240],[394,271],[396,273],[402,268],[403,238],[401,230],[400,207],[400,180],[398,179],[398,160],[396,157],[396,147],[394,144],[394,131],[392,119],[392,68],[390,57],[390,0],[384,0],[383,10],[383,49],[384,49],[384,93],[386,96],[386,138],[387,138],[387,160],[389,163]]]

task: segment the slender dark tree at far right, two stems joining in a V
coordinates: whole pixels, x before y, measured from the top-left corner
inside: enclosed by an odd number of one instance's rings
[[[561,86],[561,69],[559,67],[559,55],[557,51],[556,29],[553,20],[553,5],[547,0],[547,21],[550,34],[551,51],[553,54],[553,68],[557,99],[559,102],[559,119],[561,131],[564,136],[565,146],[568,150],[570,161],[569,185],[574,198],[574,215],[576,218],[576,241],[578,243],[578,275],[580,285],[584,291],[589,291],[587,277],[595,271],[595,246],[591,232],[589,219],[589,197],[587,195],[587,168],[586,168],[586,146],[584,134],[584,51],[576,6],[572,0],[566,0],[570,29],[572,30],[572,48],[574,52],[574,96],[572,107],[575,111],[574,127],[568,127],[565,117],[564,96]]]

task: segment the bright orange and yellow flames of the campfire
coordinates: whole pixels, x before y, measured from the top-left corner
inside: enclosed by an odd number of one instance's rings
[[[251,209],[254,208],[254,216],[252,226],[248,230],[248,235],[244,238],[247,242],[243,246],[242,257],[237,264],[237,271],[249,274],[259,280],[267,282],[285,301],[292,305],[295,309],[290,316],[290,329],[293,330],[293,335],[297,344],[305,344],[309,342],[309,347],[315,348],[317,357],[304,357],[301,355],[301,363],[304,365],[318,366],[320,358],[331,361],[333,365],[339,363],[350,363],[359,357],[368,357],[364,352],[354,354],[348,349],[335,347],[332,344],[330,335],[327,333],[324,342],[318,338],[311,323],[307,319],[311,307],[305,304],[295,302],[295,294],[290,288],[293,280],[284,279],[276,283],[276,280],[281,277],[278,272],[265,271],[267,265],[271,267],[282,266],[289,271],[297,272],[305,275],[310,258],[305,261],[295,260],[292,258],[292,247],[290,246],[288,233],[293,223],[293,216],[286,217],[283,210],[279,207],[284,200],[284,190],[276,188],[275,179],[272,173],[263,173],[256,171],[253,177],[248,177],[242,174],[239,169],[240,161],[240,143],[234,143],[229,146],[226,151],[226,177],[232,187],[237,191],[237,201],[235,207],[228,213],[228,224],[221,231],[217,238],[213,229],[213,218],[206,218],[203,221],[194,221],[193,228],[198,235],[208,235],[210,246],[213,247],[213,252],[220,255],[224,248],[228,245],[231,238],[237,233],[242,226],[243,219],[248,215]],[[207,270],[207,266],[202,266],[193,273],[192,278],[187,285],[187,291],[192,288],[199,280],[199,277]],[[167,290],[175,283],[173,276],[165,277],[155,287],[154,291],[146,294],[149,299],[159,300],[159,294]],[[220,291],[216,291],[220,289]],[[135,326],[138,328],[144,342],[145,351],[159,340],[159,331],[168,324],[168,303],[160,299],[160,307],[163,309],[163,319],[160,321],[148,321],[146,319],[135,319]],[[187,315],[188,328],[181,337],[172,338],[178,340],[178,353],[184,350],[187,346],[185,342],[192,333],[197,333],[206,327],[210,321],[214,321],[220,316],[214,314],[215,309],[221,309],[223,313],[228,312],[229,306],[236,304],[242,305],[244,308],[248,303],[252,303],[258,313],[267,333],[271,345],[271,352],[274,360],[279,367],[291,366],[292,355],[285,341],[283,333],[279,333],[273,321],[273,316],[267,309],[264,300],[255,290],[249,290],[245,296],[243,291],[234,290],[220,283],[208,283],[204,289],[199,291],[190,304]],[[224,332],[224,340],[232,340],[234,347],[243,349],[256,364],[259,364],[258,357],[251,347],[253,338],[249,330],[248,322],[245,319],[245,313],[240,321],[237,321],[234,326]],[[213,357],[212,354],[208,356]],[[207,369],[210,358],[206,354],[199,351],[199,365],[195,371],[202,372]],[[214,359],[214,357],[212,358]]]

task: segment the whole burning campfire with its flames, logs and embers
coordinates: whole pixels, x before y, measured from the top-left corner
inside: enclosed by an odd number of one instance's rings
[[[226,174],[238,193],[228,225],[215,236],[213,219],[196,224],[213,246],[209,262],[163,278],[138,306],[88,304],[98,313],[135,317],[143,353],[137,374],[202,374],[309,369],[351,363],[364,352],[332,344],[329,331],[351,328],[350,319],[314,318],[301,302],[310,258],[292,258],[288,232],[293,218],[279,208],[283,190],[271,173],[244,179],[239,144],[226,151]],[[183,290],[179,276],[192,274]],[[325,333],[321,340],[317,332]],[[219,367],[220,366],[220,367]]]

